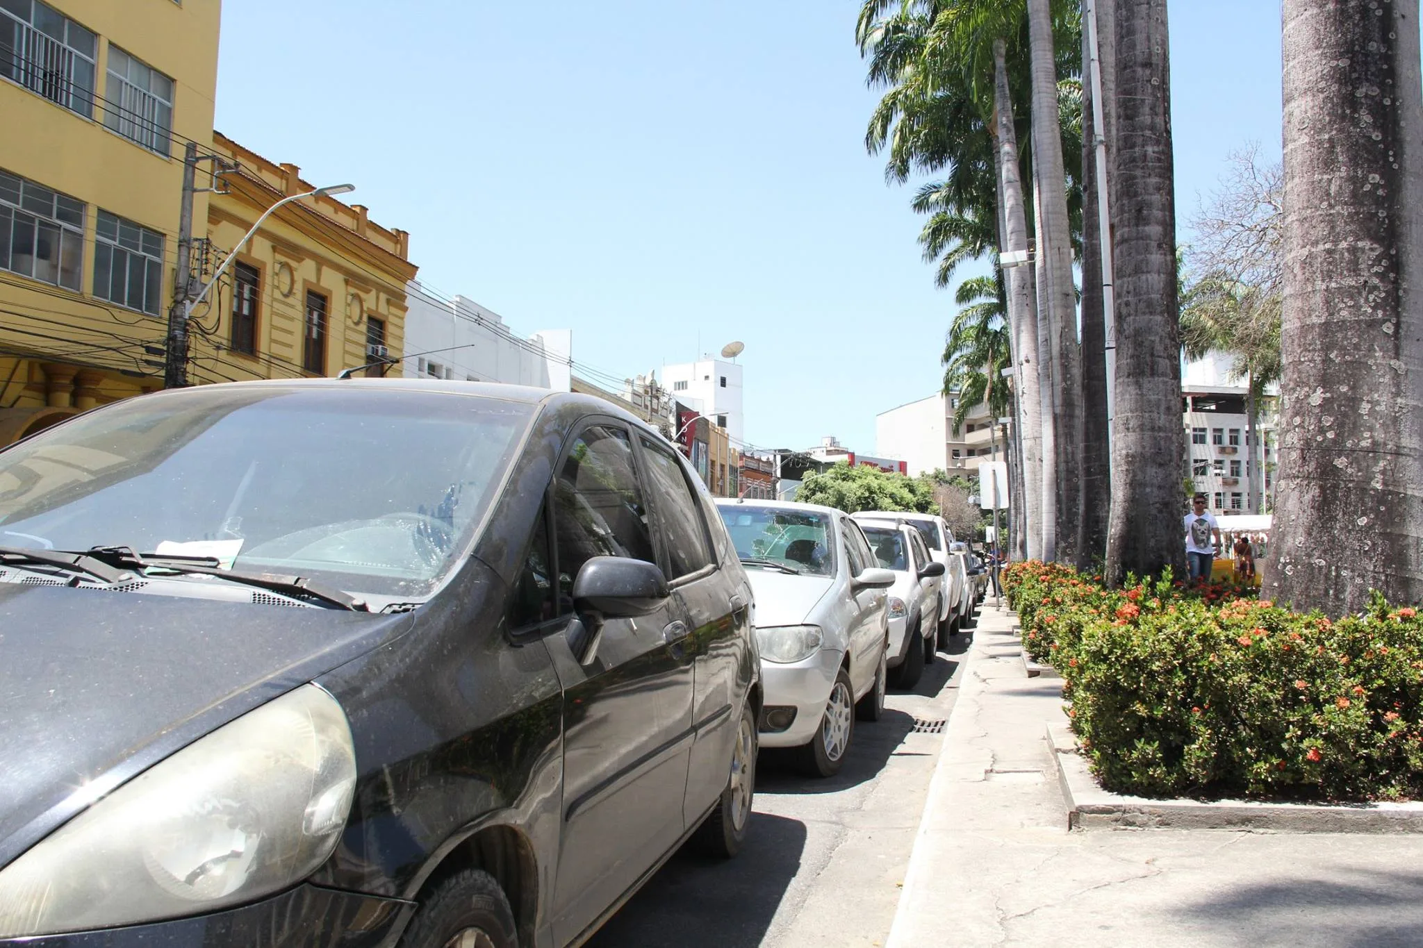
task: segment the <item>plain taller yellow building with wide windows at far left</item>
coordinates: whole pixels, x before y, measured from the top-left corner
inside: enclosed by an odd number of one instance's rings
[[[218,0],[0,3],[0,445],[162,385]],[[208,216],[198,195],[195,220]]]

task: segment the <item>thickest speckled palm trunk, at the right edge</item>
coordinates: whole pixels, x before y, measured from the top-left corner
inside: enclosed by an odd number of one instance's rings
[[[1419,1],[1285,0],[1285,308],[1265,594],[1423,597]]]

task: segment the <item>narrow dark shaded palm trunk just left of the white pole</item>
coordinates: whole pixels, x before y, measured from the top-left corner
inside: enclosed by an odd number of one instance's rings
[[[1081,31],[1083,71],[1090,34]],[[1107,334],[1101,300],[1101,230],[1097,223],[1097,125],[1091,82],[1081,84],[1081,543],[1077,569],[1107,557],[1111,456],[1107,433]]]

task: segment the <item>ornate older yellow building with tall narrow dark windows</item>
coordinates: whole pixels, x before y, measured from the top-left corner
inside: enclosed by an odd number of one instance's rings
[[[272,205],[317,186],[296,165],[273,163],[221,134],[212,141],[238,171],[222,176],[225,193],[208,203],[209,273]],[[381,227],[361,205],[322,196],[279,208],[223,274],[211,306],[194,310],[189,379],[334,375],[384,351],[400,355],[406,283],[416,277],[408,253],[410,235]]]

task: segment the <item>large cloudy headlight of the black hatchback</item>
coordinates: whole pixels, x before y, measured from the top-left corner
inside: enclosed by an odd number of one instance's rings
[[[158,921],[310,876],[350,814],[340,705],[305,685],[195,740],[0,870],[0,938]]]

